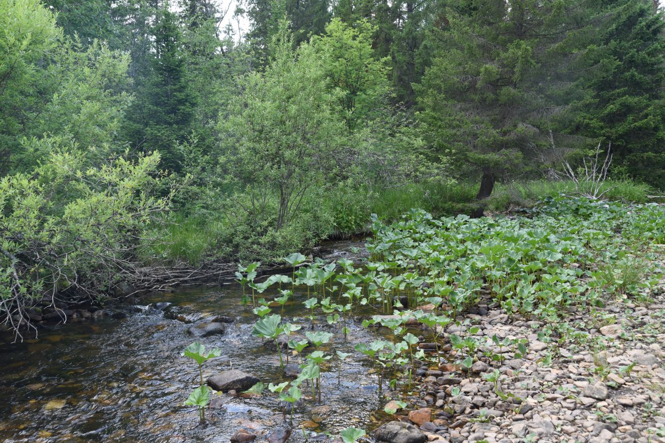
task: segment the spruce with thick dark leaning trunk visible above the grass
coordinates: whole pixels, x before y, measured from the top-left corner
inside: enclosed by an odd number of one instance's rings
[[[573,0],[450,0],[442,11],[417,88],[419,118],[434,147],[481,176],[479,200],[547,159],[553,120],[579,74],[575,58],[594,43],[589,11]]]

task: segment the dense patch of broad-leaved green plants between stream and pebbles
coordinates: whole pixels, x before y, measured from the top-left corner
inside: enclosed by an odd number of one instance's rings
[[[390,225],[375,218],[372,232],[374,238],[367,245],[370,258],[360,266],[346,259],[304,264],[304,256],[292,254],[285,260],[293,266],[293,276],[272,276],[255,285],[263,292],[276,282],[291,282],[291,290],[282,290],[282,296],[275,298],[281,306],[295,294],[306,297],[303,306],[310,312],[313,331],[306,333],[307,340],[289,340],[288,347],[301,355],[308,345],[315,346],[316,351],[302,362],[305,375],[291,383],[293,388],[311,381],[313,400],[318,394],[321,401],[321,363],[332,358],[319,349],[333,337],[316,330],[321,317],[325,323],[337,325],[344,339],[349,332],[348,315],[360,309],[376,312],[362,322],[365,327],[381,325],[392,331],[393,340],[376,339],[354,348],[368,357],[379,391],[386,381],[392,389],[400,381],[410,389],[416,360],[441,364],[439,350],[445,342],[466,371],[481,359],[503,360],[504,349],[517,358],[526,355],[526,339],[494,335],[491,343],[485,343],[474,336],[478,327],[461,314],[481,298],[499,303],[509,315],[546,320],[553,326],[539,331],[545,342],[554,343],[555,336],[583,340],[566,330],[569,325],[562,313],[569,306],[593,310],[602,306],[608,294],[640,302],[658,282],[662,270],[648,264],[648,257],[652,245],[665,241],[665,209],[547,199],[525,217],[435,219],[414,210]],[[254,269],[252,266],[247,275],[240,272],[238,280],[252,280]],[[296,292],[297,286],[302,288],[300,292]],[[254,312],[261,319],[254,333],[277,345],[279,335],[290,335],[300,326],[281,323],[281,315],[271,314],[270,304],[264,299],[255,302]],[[420,347],[421,340],[410,329],[414,322],[429,331],[426,339],[432,349]],[[466,333],[446,333],[452,324],[463,326]],[[554,329],[557,334],[553,335]],[[488,350],[486,345],[492,343],[498,353]],[[277,349],[283,364],[279,345]],[[337,356],[341,367],[348,355],[338,352]],[[549,359],[551,353],[543,364]],[[495,384],[499,396],[511,397],[501,391],[496,371],[483,377]]]

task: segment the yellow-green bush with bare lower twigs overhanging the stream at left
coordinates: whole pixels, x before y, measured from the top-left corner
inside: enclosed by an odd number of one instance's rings
[[[31,175],[0,179],[5,321],[17,327],[43,296],[76,290],[95,299],[130,278],[146,227],[168,209],[170,195],[156,195],[159,162],[154,153],[88,167],[85,153],[61,151]]]

